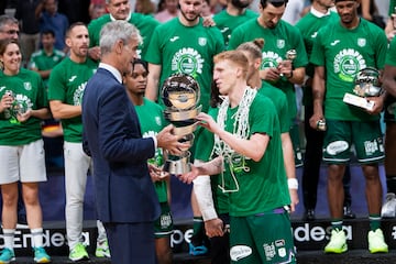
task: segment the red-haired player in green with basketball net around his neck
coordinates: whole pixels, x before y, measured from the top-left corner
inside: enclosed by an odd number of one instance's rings
[[[213,133],[218,157],[180,178],[190,183],[198,175],[220,174],[219,188],[229,197],[231,263],[295,263],[276,109],[248,86],[242,52],[224,52],[213,61],[213,79],[226,98],[216,121],[206,113],[197,120]]]

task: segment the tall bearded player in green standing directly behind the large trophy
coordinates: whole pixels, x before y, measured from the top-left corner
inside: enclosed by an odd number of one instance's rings
[[[180,14],[157,26],[148,45],[148,84],[146,97],[158,98],[160,87],[172,74],[193,76],[200,87],[202,110],[207,111],[210,98],[212,57],[224,50],[217,28],[204,26],[200,18],[202,0],[179,0]]]

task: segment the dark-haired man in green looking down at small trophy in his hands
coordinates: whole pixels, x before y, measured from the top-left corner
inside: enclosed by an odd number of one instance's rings
[[[302,154],[296,123],[297,103],[294,85],[302,84],[308,58],[298,29],[280,20],[286,4],[287,0],[261,0],[260,16],[243,23],[232,32],[229,50],[235,50],[240,44],[255,38],[265,40],[260,76],[286,95],[289,120],[283,120],[283,122],[290,122],[295,164],[298,167],[302,165]],[[296,52],[293,59],[286,56],[292,50]]]

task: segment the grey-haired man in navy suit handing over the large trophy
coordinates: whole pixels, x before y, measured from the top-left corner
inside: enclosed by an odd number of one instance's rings
[[[82,98],[85,151],[94,160],[99,219],[108,233],[112,263],[155,263],[154,223],[160,205],[147,160],[156,147],[172,154],[188,147],[172,125],[142,139],[139,119],[121,76],[132,69],[142,37],[132,24],[114,21],[101,30],[101,63]]]

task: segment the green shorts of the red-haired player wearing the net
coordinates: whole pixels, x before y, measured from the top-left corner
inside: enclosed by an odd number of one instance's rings
[[[284,208],[251,217],[230,217],[231,263],[296,263],[288,212]]]

